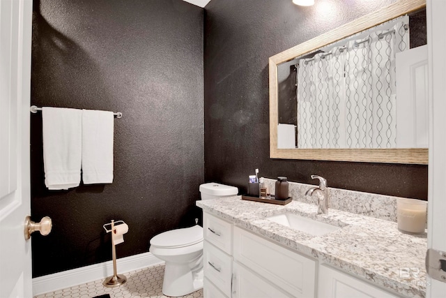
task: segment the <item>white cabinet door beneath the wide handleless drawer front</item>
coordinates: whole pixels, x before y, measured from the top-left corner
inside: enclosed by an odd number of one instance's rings
[[[260,278],[243,265],[233,264],[233,298],[286,298],[293,297]]]

